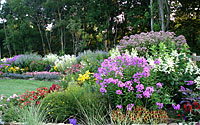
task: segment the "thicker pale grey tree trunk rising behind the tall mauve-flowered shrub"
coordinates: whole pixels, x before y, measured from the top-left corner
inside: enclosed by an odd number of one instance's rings
[[[158,0],[159,3],[159,10],[160,10],[160,18],[161,18],[161,30],[165,31],[165,18],[164,18],[164,11],[163,11],[163,0]]]

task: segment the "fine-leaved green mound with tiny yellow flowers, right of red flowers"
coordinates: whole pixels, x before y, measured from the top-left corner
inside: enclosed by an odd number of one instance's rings
[[[83,87],[70,86],[66,91],[49,94],[44,99],[44,106],[48,106],[46,110],[49,111],[49,118],[63,122],[70,117],[80,118],[82,113],[78,109],[79,104],[86,108],[88,99],[92,100],[90,105],[100,102],[98,94],[86,91]]]

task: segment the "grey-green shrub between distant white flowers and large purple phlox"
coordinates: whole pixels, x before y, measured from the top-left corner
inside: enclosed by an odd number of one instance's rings
[[[91,50],[84,51],[83,53],[79,53],[77,57],[78,63],[84,67],[82,72],[89,70],[90,72],[97,71],[98,67],[101,65],[104,59],[108,57],[108,53],[104,51],[95,51]]]

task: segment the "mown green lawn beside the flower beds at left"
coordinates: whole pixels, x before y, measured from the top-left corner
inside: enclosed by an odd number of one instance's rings
[[[27,90],[36,90],[39,87],[50,87],[55,82],[21,79],[0,79],[0,95],[21,95]]]

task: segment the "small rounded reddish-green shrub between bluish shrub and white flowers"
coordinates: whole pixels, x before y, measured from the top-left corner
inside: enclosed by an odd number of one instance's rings
[[[30,71],[45,71],[49,66],[49,62],[45,60],[35,60],[30,64]]]

